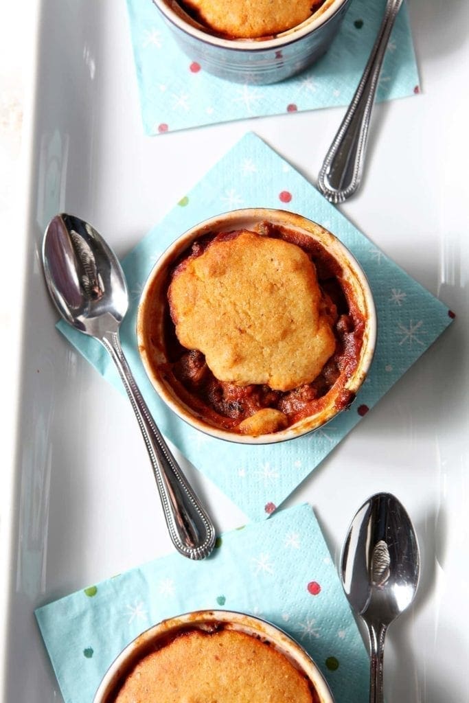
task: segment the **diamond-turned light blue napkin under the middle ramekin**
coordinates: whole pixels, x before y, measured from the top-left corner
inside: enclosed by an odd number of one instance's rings
[[[363,266],[378,309],[375,359],[352,407],[323,429],[276,445],[227,444],[176,418],[150,385],[136,344],[139,297],[160,252],[199,221],[236,207],[286,208],[330,229]],[[131,295],[122,325],[122,345],[150,411],[162,432],[253,520],[273,512],[451,322],[451,313],[442,302],[390,261],[311,183],[252,133],[246,134],[181,198],[122,264]],[[58,326],[124,394],[113,362],[101,344],[65,322]]]

